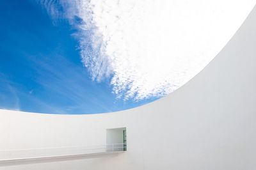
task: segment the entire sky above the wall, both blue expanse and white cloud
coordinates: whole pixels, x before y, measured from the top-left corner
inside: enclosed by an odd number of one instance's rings
[[[227,44],[255,0],[2,0],[0,109],[113,112],[164,97]]]

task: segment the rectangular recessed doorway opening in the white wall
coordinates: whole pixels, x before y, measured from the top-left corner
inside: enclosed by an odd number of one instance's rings
[[[126,151],[126,128],[108,128],[106,130],[107,151]]]

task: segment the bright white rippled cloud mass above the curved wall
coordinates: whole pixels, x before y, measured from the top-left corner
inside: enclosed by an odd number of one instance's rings
[[[64,17],[79,29],[81,58],[93,80],[111,76],[117,97],[134,100],[162,97],[189,81],[220,52],[255,3],[61,1]]]

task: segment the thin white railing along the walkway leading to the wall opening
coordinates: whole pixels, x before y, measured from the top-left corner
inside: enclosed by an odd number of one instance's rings
[[[22,150],[0,150],[0,162],[36,158],[76,157],[100,155],[126,151],[125,143],[102,144],[96,146],[71,146],[55,148],[31,148]]]

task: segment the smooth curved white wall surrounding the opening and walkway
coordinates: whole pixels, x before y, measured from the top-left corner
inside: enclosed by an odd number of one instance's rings
[[[202,72],[151,104],[92,115],[0,110],[0,150],[104,144],[107,128],[127,128],[125,153],[0,169],[255,169],[255,45],[256,8]]]

